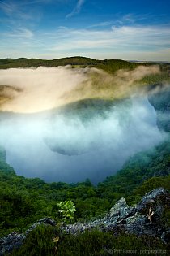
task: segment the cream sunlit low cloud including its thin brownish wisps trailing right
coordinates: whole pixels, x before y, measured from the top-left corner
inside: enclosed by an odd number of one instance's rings
[[[120,70],[114,75],[70,66],[0,70],[0,110],[33,113],[86,98],[124,98],[134,92],[135,82],[157,73],[157,66]]]

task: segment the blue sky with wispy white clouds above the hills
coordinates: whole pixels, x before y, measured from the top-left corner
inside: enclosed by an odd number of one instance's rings
[[[169,0],[0,0],[0,58],[170,61]]]

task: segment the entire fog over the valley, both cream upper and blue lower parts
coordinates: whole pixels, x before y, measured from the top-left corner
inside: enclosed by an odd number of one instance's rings
[[[94,72],[96,77],[96,70],[88,68],[0,71],[0,85],[6,85],[2,90],[6,97],[0,112],[0,145],[17,174],[50,182],[90,178],[96,184],[120,169],[130,156],[164,140],[164,133],[156,126],[155,110],[144,94],[109,104],[95,101],[92,108],[72,109],[70,104],[58,109],[67,103],[69,92],[68,102],[73,101],[74,90],[78,97],[77,87],[82,88],[84,83],[89,85],[86,92],[91,91]],[[107,80],[107,85],[113,81],[120,86],[132,85],[138,80],[138,70],[127,76],[122,71],[113,77],[99,73],[101,82]],[[79,99],[84,95],[79,94]]]

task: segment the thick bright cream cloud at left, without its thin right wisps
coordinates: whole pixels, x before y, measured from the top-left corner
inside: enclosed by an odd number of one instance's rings
[[[0,71],[0,85],[21,89],[11,90],[11,97],[2,104],[3,111],[38,112],[64,104],[62,95],[78,86],[87,77],[70,67],[11,68]],[[3,92],[3,94],[6,91]],[[8,89],[9,95],[9,89]]]

